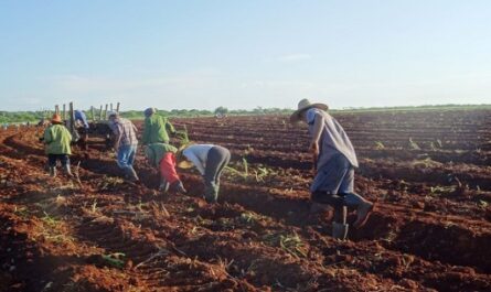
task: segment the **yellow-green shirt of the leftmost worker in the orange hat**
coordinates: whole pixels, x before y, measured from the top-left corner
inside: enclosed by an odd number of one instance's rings
[[[52,125],[44,131],[46,154],[72,154],[72,134],[63,125]]]

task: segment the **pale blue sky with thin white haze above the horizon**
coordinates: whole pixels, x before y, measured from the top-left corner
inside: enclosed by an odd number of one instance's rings
[[[491,104],[491,1],[0,1],[1,110]]]

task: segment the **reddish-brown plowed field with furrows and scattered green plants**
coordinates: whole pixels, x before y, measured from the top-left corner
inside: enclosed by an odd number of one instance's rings
[[[50,179],[43,129],[0,130],[0,291],[491,291],[491,111],[335,117],[377,202],[346,241],[285,116],[174,120],[233,154],[216,205],[192,170],[189,194],[159,194],[141,153],[125,183],[97,138],[74,148],[82,185]]]

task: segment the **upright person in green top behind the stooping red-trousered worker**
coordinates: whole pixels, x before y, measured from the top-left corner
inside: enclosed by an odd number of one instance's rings
[[[147,108],[145,111],[143,145],[151,143],[169,143],[169,134],[175,133],[172,123],[166,117],[159,116],[156,108]]]

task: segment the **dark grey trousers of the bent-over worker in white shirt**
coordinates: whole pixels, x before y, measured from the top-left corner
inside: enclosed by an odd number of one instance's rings
[[[204,170],[205,197],[207,202],[214,203],[218,198],[220,175],[223,169],[231,161],[228,149],[215,145],[210,149],[206,156],[206,167]]]

